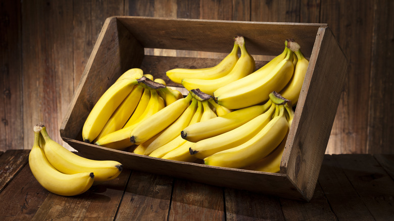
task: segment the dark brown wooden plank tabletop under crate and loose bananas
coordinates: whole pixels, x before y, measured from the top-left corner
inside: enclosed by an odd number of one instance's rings
[[[305,202],[130,170],[64,197],[35,180],[29,152],[0,152],[2,220],[394,220],[394,155],[325,155]]]

